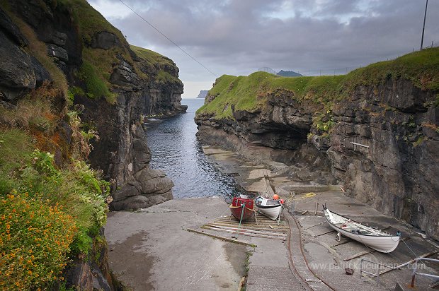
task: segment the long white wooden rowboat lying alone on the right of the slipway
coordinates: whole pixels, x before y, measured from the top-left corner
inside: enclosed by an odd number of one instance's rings
[[[363,225],[360,222],[329,211],[325,206],[323,210],[329,225],[345,237],[355,239],[357,242],[382,253],[389,253],[398,247],[399,235],[388,234],[374,227]]]

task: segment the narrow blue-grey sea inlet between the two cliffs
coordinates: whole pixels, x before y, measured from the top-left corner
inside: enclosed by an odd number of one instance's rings
[[[223,174],[203,153],[195,133],[195,112],[204,99],[183,99],[186,114],[147,120],[147,141],[152,152],[150,167],[172,179],[174,198],[224,196],[239,191],[232,177]]]

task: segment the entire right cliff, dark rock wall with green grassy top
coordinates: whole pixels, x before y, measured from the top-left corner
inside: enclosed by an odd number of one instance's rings
[[[346,76],[222,76],[195,121],[253,159],[312,163],[312,145],[348,195],[439,239],[438,93],[435,48]]]

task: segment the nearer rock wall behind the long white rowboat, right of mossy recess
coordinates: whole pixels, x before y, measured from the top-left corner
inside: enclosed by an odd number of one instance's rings
[[[357,88],[334,112],[326,153],[351,196],[438,239],[439,134],[428,127],[439,124],[438,107],[428,105],[434,96],[406,80]]]

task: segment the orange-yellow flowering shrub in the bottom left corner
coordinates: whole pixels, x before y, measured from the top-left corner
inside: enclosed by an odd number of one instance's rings
[[[0,286],[29,290],[57,280],[77,227],[60,206],[12,192],[0,201]]]

